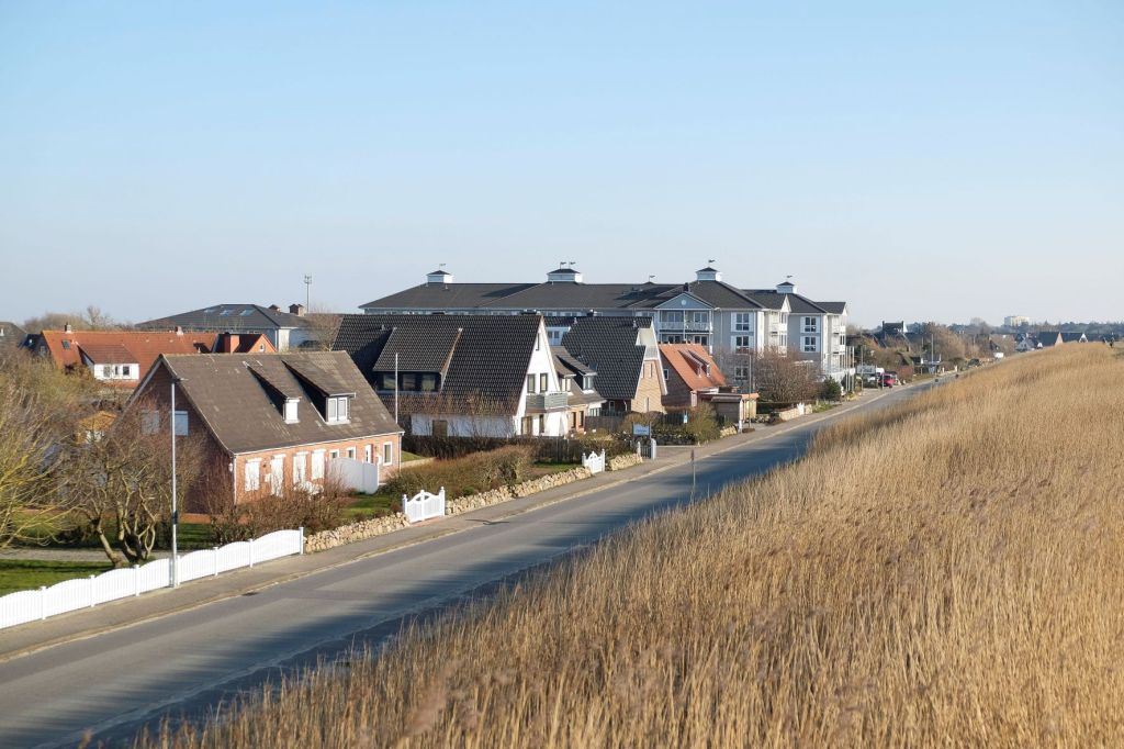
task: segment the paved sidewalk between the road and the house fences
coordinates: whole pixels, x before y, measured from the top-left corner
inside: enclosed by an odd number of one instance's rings
[[[755,432],[749,434],[737,434],[724,440],[698,445],[694,449],[696,460],[705,460],[709,455],[736,450],[746,444],[768,440],[777,434],[783,434],[816,422],[841,416],[880,397],[880,395],[867,395],[858,401],[845,404],[822,414],[798,418],[777,426],[759,426]],[[264,587],[346,565],[356,559],[423,543],[474,527],[481,523],[497,522],[511,515],[581,497],[600,489],[682,466],[690,461],[690,454],[691,448],[689,446],[661,448],[659,451],[660,457],[656,460],[645,461],[640,466],[622,471],[598,473],[592,478],[555,487],[528,497],[511,499],[461,515],[428,521],[319,553],[285,557],[265,562],[259,567],[224,572],[212,579],[193,580],[175,589],[163,588],[146,593],[136,598],[124,598],[101,604],[94,608],[70,612],[44,621],[29,622],[11,629],[0,630],[0,661],[34,652],[60,642],[93,637],[109,630],[126,628],[215,601],[239,595],[253,595]]]

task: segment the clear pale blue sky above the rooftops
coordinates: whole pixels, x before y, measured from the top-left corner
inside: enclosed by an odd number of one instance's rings
[[[1124,318],[1124,3],[0,3],[0,319],[726,280]]]

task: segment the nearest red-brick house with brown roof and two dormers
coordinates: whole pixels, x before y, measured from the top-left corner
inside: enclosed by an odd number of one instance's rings
[[[235,503],[315,486],[335,459],[373,463],[380,481],[398,470],[402,431],[342,351],[162,355],[126,408],[166,414],[173,382],[178,434],[206,435]],[[206,512],[190,491],[185,505]]]

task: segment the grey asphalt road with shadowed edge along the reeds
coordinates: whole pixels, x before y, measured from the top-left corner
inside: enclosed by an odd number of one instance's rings
[[[924,387],[895,389],[850,413]],[[830,421],[796,425],[700,460],[696,496],[798,458]],[[378,646],[406,620],[487,595],[505,578],[688,502],[690,493],[691,468],[680,466],[8,660],[0,664],[0,747],[74,746],[88,730],[96,740],[120,746],[164,716],[199,720],[239,692],[355,644]]]

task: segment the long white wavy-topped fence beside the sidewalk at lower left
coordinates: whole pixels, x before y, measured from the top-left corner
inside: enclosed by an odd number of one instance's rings
[[[443,499],[444,502],[444,495]],[[277,531],[252,541],[228,543],[180,556],[180,583],[215,577],[219,572],[279,557],[305,553],[305,529]],[[63,580],[37,590],[19,590],[0,597],[0,629],[16,626],[79,608],[92,608],[118,598],[172,585],[172,560],[157,559],[144,566],[111,569],[101,575]]]

